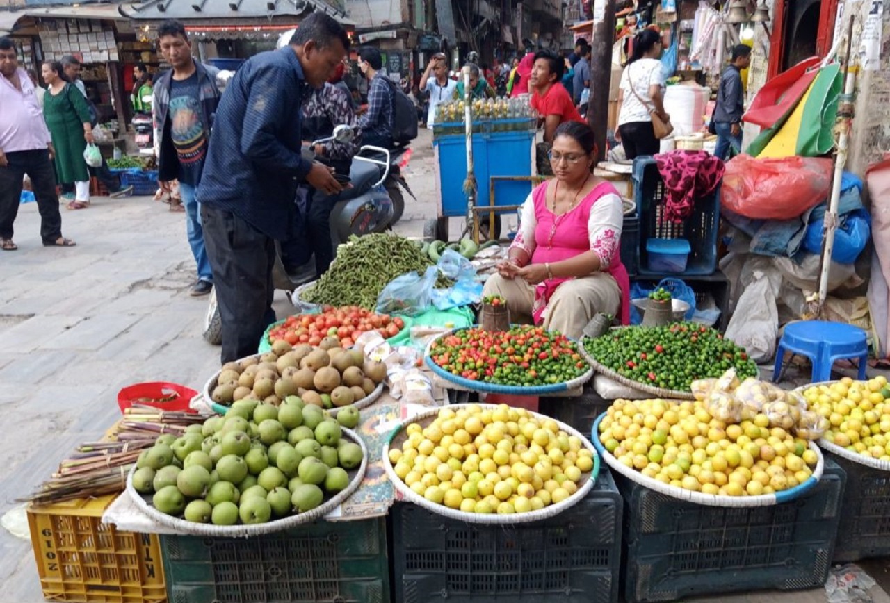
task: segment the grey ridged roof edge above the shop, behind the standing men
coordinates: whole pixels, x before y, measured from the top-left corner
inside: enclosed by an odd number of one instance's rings
[[[346,13],[326,0],[144,0],[120,4],[120,12],[133,20],[257,20],[303,17],[307,12],[327,12],[349,22]]]

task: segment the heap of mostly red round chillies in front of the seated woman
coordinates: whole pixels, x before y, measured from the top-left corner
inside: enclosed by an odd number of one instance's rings
[[[506,332],[460,329],[435,342],[430,357],[465,379],[528,387],[568,382],[589,368],[575,342],[539,326]]]

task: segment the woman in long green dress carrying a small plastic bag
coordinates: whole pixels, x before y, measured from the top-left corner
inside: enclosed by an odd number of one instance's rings
[[[84,95],[70,84],[58,61],[44,63],[42,75],[48,86],[44,97],[44,119],[53,138],[56,176],[60,184],[74,183],[75,198],[69,209],[90,205],[90,173],[84,150],[93,144],[93,125]]]

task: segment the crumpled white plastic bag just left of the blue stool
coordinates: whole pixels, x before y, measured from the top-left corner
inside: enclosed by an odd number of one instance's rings
[[[741,293],[726,327],[726,338],[748,350],[748,358],[765,362],[773,358],[779,334],[779,310],[770,279],[756,272],[754,282]]]

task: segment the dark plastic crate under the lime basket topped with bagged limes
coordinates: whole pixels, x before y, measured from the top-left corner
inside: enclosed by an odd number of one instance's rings
[[[834,551],[845,472],[826,459],[813,490],[789,503],[684,503],[619,476],[625,499],[624,597],[672,601],[733,591],[821,588]]]

